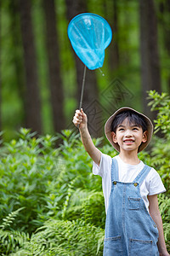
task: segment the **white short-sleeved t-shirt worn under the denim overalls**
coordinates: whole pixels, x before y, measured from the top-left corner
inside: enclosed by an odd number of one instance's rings
[[[132,183],[134,178],[137,177],[140,171],[144,168],[143,161],[138,165],[128,165],[122,161],[119,155],[116,155],[119,170],[119,181],[122,183]],[[109,206],[109,197],[111,194],[111,156],[101,154],[99,166],[94,163],[93,173],[102,177],[102,188],[105,198],[105,212]],[[144,204],[149,211],[149,201],[147,195],[157,195],[165,192],[166,189],[161,182],[161,177],[154,168],[150,169],[148,175],[144,178],[143,183],[140,185],[140,195],[144,200]]]

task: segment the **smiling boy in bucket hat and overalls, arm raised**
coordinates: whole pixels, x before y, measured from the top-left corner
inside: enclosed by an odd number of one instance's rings
[[[113,159],[94,146],[82,109],[76,111],[73,123],[79,125],[84,148],[94,160],[94,174],[102,177],[104,255],[169,256],[157,201],[165,188],[158,173],[138,158],[152,137],[150,119],[133,108],[120,108],[111,115],[105,135],[119,152]]]

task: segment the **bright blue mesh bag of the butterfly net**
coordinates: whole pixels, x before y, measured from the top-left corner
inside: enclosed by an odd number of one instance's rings
[[[68,26],[68,37],[76,54],[89,69],[103,66],[105,48],[112,38],[111,26],[104,18],[89,13],[77,15]]]

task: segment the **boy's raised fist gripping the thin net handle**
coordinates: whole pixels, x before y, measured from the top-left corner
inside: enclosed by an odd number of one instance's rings
[[[83,128],[87,127],[88,118],[87,118],[86,113],[84,113],[82,111],[82,108],[81,108],[81,110],[78,110],[78,109],[76,110],[76,113],[75,113],[75,115],[73,117],[72,122],[79,129],[83,129]]]

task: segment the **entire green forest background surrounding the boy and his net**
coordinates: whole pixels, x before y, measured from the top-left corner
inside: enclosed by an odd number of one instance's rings
[[[0,0],[0,255],[102,255],[101,179],[72,125],[84,66],[67,27],[83,12],[113,32],[104,66],[87,71],[88,128],[114,156],[104,124],[116,108],[153,120],[159,133],[139,157],[167,189],[158,199],[170,250],[170,2]]]

